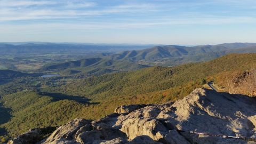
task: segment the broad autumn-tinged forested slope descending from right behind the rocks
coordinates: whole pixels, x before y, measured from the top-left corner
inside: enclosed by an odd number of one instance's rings
[[[48,87],[46,91],[81,95],[99,102],[84,111],[87,118],[111,113],[119,105],[131,103],[161,103],[184,97],[205,81],[226,86],[226,77],[233,73],[256,67],[256,54],[231,54],[203,63],[177,67],[152,67],[129,73],[116,73],[90,77],[60,87]],[[110,104],[111,103],[111,104]],[[104,109],[104,110],[102,110]]]

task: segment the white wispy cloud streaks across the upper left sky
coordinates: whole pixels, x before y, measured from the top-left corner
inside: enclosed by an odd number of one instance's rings
[[[13,0],[12,0],[13,1]],[[13,8],[12,2],[6,0],[1,1],[3,3],[2,9],[0,9],[0,22],[4,21],[19,21],[19,20],[43,20],[43,19],[79,19],[84,17],[91,17],[97,15],[108,15],[118,13],[148,13],[157,11],[153,4],[122,4],[116,6],[103,6],[98,9],[82,9],[87,7],[97,6],[93,2],[42,2],[42,1],[21,1],[17,3],[16,7]],[[57,5],[55,7],[28,7],[31,5]]]

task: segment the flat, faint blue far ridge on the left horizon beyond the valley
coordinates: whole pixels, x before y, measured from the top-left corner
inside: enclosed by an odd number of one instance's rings
[[[125,50],[146,49],[152,45],[97,45],[97,44],[62,44],[62,43],[26,43],[12,45],[0,43],[0,54],[15,53],[84,53],[84,52],[121,52]]]

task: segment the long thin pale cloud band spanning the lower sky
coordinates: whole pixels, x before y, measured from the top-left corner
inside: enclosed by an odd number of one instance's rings
[[[94,30],[94,29],[138,29],[138,28],[161,28],[180,25],[219,25],[230,23],[256,23],[251,17],[207,17],[190,19],[155,19],[152,21],[126,22],[86,22],[86,23],[31,23],[23,25],[2,25],[0,31],[5,33],[28,33],[29,31],[73,31],[73,30]],[[43,28],[43,29],[42,29]]]

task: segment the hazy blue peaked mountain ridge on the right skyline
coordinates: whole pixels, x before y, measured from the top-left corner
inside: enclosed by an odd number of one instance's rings
[[[173,58],[173,57],[184,57],[184,56],[193,56],[198,54],[205,54],[211,52],[221,52],[225,53],[236,52],[237,49],[246,49],[250,48],[251,52],[256,52],[253,50],[252,46],[256,46],[256,43],[231,43],[231,44],[218,44],[218,45],[199,45],[193,47],[187,46],[178,46],[178,45],[163,45],[163,46],[154,46],[150,49],[144,50],[133,50],[133,51],[124,51],[113,55],[114,59],[130,59],[130,60],[157,60],[163,58]],[[230,52],[229,52],[230,51]],[[242,52],[238,50],[238,52]]]

